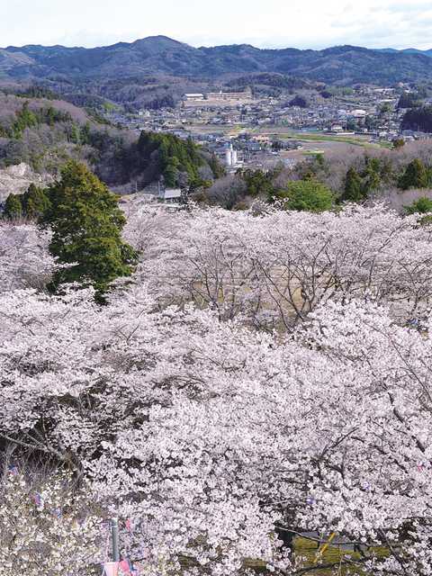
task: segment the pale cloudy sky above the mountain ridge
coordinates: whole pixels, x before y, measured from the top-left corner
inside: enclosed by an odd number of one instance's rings
[[[0,45],[432,48],[431,0],[0,0]],[[430,40],[428,40],[430,38]]]

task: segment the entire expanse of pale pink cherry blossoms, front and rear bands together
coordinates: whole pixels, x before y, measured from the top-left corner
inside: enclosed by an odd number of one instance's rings
[[[2,449],[70,471],[150,576],[333,568],[283,546],[305,532],[354,548],[338,566],[429,576],[430,229],[143,209],[126,234],[139,270],[105,306],[0,294]]]

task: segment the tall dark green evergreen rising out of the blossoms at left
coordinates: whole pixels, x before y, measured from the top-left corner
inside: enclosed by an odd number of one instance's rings
[[[131,274],[137,256],[121,239],[125,218],[117,197],[75,161],[67,163],[48,193],[43,222],[52,230],[49,252],[68,265],[56,273],[53,288],[92,284],[102,299],[115,278]]]

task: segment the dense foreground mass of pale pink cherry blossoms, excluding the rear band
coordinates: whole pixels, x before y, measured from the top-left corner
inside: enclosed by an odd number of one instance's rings
[[[327,303],[280,341],[214,312],[155,311],[143,288],[102,309],[85,292],[10,293],[4,307],[14,299],[0,436],[89,478],[131,518],[125,549],[148,570],[259,558],[295,573],[277,524],[393,550],[357,560],[375,571],[428,573],[427,333],[365,302]]]

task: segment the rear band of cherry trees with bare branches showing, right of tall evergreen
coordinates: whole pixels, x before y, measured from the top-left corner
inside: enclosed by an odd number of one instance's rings
[[[220,320],[241,314],[266,329],[292,329],[329,300],[373,297],[400,319],[428,309],[432,229],[383,205],[259,216],[141,211],[129,222],[131,243],[142,246],[148,221],[137,277],[164,303],[210,306]]]

